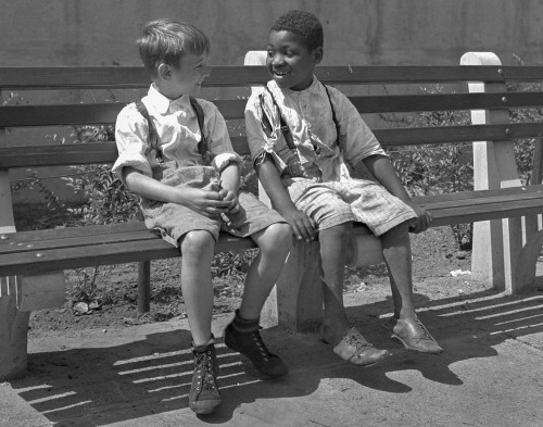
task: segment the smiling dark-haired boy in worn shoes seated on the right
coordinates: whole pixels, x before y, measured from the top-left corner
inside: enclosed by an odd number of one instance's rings
[[[290,11],[272,26],[266,66],[273,80],[245,108],[249,146],[260,180],[298,239],[320,242],[325,284],[323,340],[343,360],[371,365],[388,355],[350,326],[343,305],[346,242],[353,222],[380,236],[392,297],[393,337],[414,351],[442,348],[413,303],[408,229],[431,215],[405,191],[388,155],[349,99],[314,75],[323,60],[316,16]],[[364,167],[365,166],[365,167]],[[375,177],[367,179],[367,169]]]

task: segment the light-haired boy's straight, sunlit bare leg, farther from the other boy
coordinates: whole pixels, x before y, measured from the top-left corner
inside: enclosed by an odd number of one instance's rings
[[[215,239],[204,230],[190,231],[181,241],[181,290],[194,347],[205,346],[211,339],[214,249]]]

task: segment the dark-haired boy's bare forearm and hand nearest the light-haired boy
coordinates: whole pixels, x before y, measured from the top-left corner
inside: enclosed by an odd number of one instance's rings
[[[257,173],[258,179],[264,190],[266,190],[273,208],[289,223],[296,239],[304,239],[306,242],[316,240],[317,230],[315,222],[294,205],[289,192],[281,183],[274,162],[264,161],[258,166]]]

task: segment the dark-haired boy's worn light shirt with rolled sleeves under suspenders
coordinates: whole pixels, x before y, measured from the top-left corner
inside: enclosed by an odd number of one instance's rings
[[[281,89],[274,80],[267,83],[281,114],[289,126],[298,152],[290,150],[280,129],[279,114],[265,88],[255,88],[245,106],[245,133],[251,155],[254,159],[268,152],[274,158],[279,175],[299,159],[304,167],[317,165],[321,179],[344,180],[351,178],[352,168],[363,159],[387,155],[379,141],[351,101],[338,89],[328,86],[336,117],[340,125],[339,145],[326,88],[316,77],[307,89],[294,91]],[[273,133],[263,131],[263,108],[272,122]],[[317,151],[320,151],[317,155]],[[318,150],[320,149],[320,150]],[[298,159],[296,159],[298,156]]]

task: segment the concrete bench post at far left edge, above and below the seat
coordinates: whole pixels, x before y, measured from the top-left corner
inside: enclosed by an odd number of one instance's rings
[[[2,93],[0,91],[0,104]],[[7,146],[5,129],[0,128],[0,146]],[[0,238],[15,231],[10,176],[0,169]],[[0,381],[26,372],[28,319],[30,312],[17,309],[20,284],[16,277],[0,277]]]

